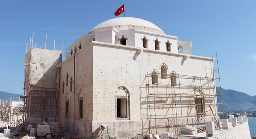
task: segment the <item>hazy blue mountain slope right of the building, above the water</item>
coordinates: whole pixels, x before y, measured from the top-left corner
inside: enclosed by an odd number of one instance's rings
[[[220,88],[216,87],[217,94],[220,95]],[[246,93],[235,90],[225,90],[221,88],[223,98],[223,109],[226,111],[246,111],[256,109],[256,96],[249,96]],[[218,103],[221,103],[221,97],[217,97]],[[222,111],[221,105],[218,105],[218,111]]]

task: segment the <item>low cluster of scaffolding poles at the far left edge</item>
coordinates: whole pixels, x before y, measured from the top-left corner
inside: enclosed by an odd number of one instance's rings
[[[0,99],[0,120],[7,122],[9,126],[17,126],[24,122],[22,109],[23,101],[18,98]]]

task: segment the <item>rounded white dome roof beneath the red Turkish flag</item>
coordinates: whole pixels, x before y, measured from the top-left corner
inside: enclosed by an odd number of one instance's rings
[[[155,24],[134,17],[118,17],[114,19],[107,20],[105,22],[96,25],[88,34],[92,33],[94,29],[104,29],[108,27],[114,27],[118,31],[128,30],[128,29],[138,29],[142,31],[154,32],[157,34],[165,34],[159,27]]]

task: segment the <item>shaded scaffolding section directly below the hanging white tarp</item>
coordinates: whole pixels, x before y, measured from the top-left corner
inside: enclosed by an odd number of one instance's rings
[[[31,90],[31,88],[35,89]],[[57,89],[45,90],[45,88],[29,85],[28,89],[24,91],[24,95],[20,96],[24,102],[21,109],[24,121],[38,118],[43,120],[46,117],[54,118],[57,121],[59,111],[57,93]]]

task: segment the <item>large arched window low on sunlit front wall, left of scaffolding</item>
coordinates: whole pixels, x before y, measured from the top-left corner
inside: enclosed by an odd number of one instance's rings
[[[118,87],[115,92],[116,118],[130,119],[130,93],[124,86]]]

